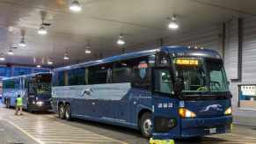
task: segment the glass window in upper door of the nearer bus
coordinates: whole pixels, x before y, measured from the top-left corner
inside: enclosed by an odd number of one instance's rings
[[[172,77],[168,69],[155,70],[155,91],[171,94],[173,91]]]

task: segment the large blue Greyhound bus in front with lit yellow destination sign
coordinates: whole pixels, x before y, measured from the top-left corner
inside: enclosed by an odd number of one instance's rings
[[[144,137],[186,138],[230,131],[230,90],[221,55],[160,47],[53,70],[61,119],[138,129]]]

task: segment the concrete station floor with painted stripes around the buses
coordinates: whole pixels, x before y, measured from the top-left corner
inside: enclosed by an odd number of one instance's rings
[[[75,119],[66,121],[53,113],[25,113],[14,116],[14,110],[0,108],[0,144],[57,143],[131,143],[146,144],[135,130]],[[176,144],[255,144],[256,128],[234,126],[232,133],[217,134],[201,139],[175,140]]]

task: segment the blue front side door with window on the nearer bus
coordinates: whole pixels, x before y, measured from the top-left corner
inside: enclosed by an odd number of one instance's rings
[[[165,139],[165,136],[168,138],[171,136],[170,134],[174,137],[178,136],[179,100],[174,98],[171,70],[169,68],[153,68],[152,76],[153,137]]]

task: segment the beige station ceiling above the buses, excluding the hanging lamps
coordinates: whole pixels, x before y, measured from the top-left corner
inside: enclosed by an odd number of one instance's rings
[[[256,15],[255,0],[79,0],[83,10],[69,11],[69,0],[0,0],[0,53],[4,63],[54,66],[88,61],[134,51],[160,38],[189,32],[229,21],[231,18]],[[41,11],[48,34],[38,35]],[[170,31],[168,18],[177,15],[179,30]],[[21,30],[27,47],[18,47]],[[116,40],[124,34],[126,45]],[[84,54],[86,41],[91,54]],[[7,55],[10,47],[14,55]],[[70,61],[63,61],[67,52]],[[42,63],[43,62],[43,63]]]

